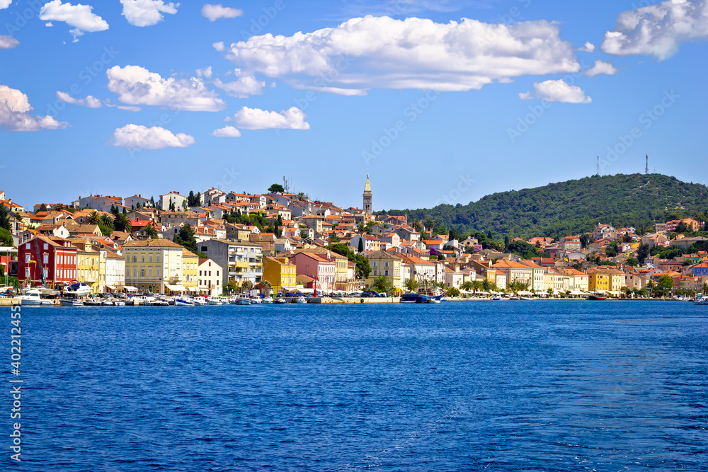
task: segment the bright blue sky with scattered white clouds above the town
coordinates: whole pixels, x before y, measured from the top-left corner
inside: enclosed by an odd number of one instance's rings
[[[0,0],[0,187],[25,206],[283,175],[361,205],[369,173],[375,209],[432,207],[645,154],[707,180],[705,0],[83,1]]]

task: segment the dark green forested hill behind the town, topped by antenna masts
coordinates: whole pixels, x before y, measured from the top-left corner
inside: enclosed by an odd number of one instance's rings
[[[590,231],[598,222],[620,228],[648,228],[667,217],[706,221],[708,188],[661,174],[607,175],[552,183],[544,187],[487,195],[468,205],[438,205],[381,214],[408,214],[409,222],[435,221],[461,234],[492,231],[496,235],[559,238]]]

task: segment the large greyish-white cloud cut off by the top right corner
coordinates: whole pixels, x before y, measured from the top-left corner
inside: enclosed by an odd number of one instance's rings
[[[707,0],[667,0],[623,11],[605,33],[603,52],[617,56],[673,56],[684,42],[708,38]]]

